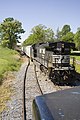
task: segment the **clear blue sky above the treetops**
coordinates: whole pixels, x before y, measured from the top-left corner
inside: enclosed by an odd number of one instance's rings
[[[39,24],[52,28],[54,32],[69,24],[75,33],[80,27],[80,0],[0,0],[0,22],[8,17],[22,23],[26,31],[22,41]]]

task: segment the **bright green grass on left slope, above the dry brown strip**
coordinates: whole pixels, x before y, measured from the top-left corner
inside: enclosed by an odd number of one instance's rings
[[[19,69],[21,62],[18,56],[19,54],[15,50],[0,46],[0,83],[6,71],[16,71]]]

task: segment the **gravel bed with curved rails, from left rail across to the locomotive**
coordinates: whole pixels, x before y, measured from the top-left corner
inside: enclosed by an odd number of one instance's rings
[[[36,96],[72,88],[72,86],[55,85],[30,60],[26,68],[23,85],[23,120],[32,120],[32,102]],[[24,88],[25,86],[26,88]]]

